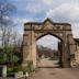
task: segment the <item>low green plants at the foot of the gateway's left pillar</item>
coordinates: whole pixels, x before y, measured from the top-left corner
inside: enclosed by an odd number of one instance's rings
[[[27,65],[24,67],[21,65],[18,65],[15,67],[8,67],[8,76],[18,71],[23,71],[24,74],[29,72],[31,75],[33,71],[35,71],[35,68],[33,67],[33,61],[27,60]]]

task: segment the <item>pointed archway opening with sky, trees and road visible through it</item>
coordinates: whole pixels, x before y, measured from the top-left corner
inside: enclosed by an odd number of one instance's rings
[[[36,41],[37,67],[59,68],[61,67],[61,41],[52,35],[45,34]]]

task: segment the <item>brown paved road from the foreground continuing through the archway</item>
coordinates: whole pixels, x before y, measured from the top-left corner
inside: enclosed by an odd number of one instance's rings
[[[57,60],[48,58],[41,59],[40,70],[29,79],[79,79],[78,68],[52,68],[57,67],[56,63]]]

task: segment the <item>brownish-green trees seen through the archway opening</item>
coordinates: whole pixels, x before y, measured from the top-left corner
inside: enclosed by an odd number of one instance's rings
[[[42,56],[44,56],[45,58],[49,58],[49,59],[59,58],[58,50],[50,49],[48,47],[43,47],[43,46],[37,47],[37,55],[38,55],[38,58],[42,58]]]

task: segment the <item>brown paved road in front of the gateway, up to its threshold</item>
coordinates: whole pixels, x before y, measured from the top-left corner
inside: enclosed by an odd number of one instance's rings
[[[79,69],[74,68],[41,68],[29,79],[79,79]]]

